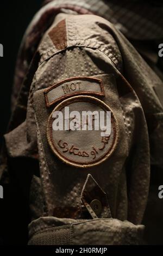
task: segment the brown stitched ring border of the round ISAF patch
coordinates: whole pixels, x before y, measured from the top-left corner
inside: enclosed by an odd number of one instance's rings
[[[112,140],[112,144],[109,148],[108,151],[106,151],[105,154],[103,154],[101,157],[99,157],[96,160],[92,160],[92,161],[85,161],[85,162],[80,162],[80,161],[74,161],[68,157],[66,157],[64,154],[61,153],[61,151],[59,151],[56,147],[57,143],[54,143],[53,141],[53,131],[52,131],[52,123],[53,123],[53,118],[52,118],[52,114],[54,111],[61,111],[62,108],[64,108],[65,106],[70,105],[71,103],[74,102],[91,102],[91,103],[96,103],[98,104],[101,108],[104,109],[104,111],[106,111],[106,109],[108,111],[111,111],[111,123],[112,123],[112,130],[113,130],[113,140]],[[111,154],[114,152],[114,150],[116,149],[117,146],[117,141],[118,141],[118,137],[119,137],[119,130],[118,130],[118,123],[117,123],[117,119],[114,116],[111,108],[106,105],[103,101],[92,97],[92,96],[74,96],[71,97],[70,99],[67,99],[63,102],[61,102],[57,107],[54,108],[53,112],[51,113],[51,115],[49,116],[48,122],[47,122],[47,139],[48,139],[48,143],[49,146],[51,147],[53,153],[58,156],[58,158],[62,161],[65,162],[67,164],[70,164],[71,166],[75,166],[75,167],[79,167],[79,168],[87,168],[87,167],[93,167],[96,166],[98,164],[101,164],[102,162],[104,162],[105,160],[107,160]],[[58,131],[59,132],[59,131]]]

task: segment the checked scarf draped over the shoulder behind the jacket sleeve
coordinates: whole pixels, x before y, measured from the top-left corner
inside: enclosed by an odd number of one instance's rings
[[[147,1],[148,2],[148,1]],[[29,64],[42,38],[58,13],[96,14],[104,17],[128,39],[163,39],[163,4],[134,0],[46,0],[30,23],[18,53],[12,91],[12,111]],[[156,4],[157,3],[157,4]],[[32,62],[33,63],[33,62]]]

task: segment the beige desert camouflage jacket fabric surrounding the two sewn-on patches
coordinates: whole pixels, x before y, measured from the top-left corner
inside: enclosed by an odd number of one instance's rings
[[[52,106],[47,107],[45,99],[47,88],[60,88],[55,85],[61,81],[79,82],[81,77],[102,81],[104,95],[90,96],[85,89],[79,96],[70,92],[66,101],[95,97],[109,106],[118,130],[112,154],[85,168],[67,164],[48,143],[48,120],[54,107],[62,104],[64,91],[56,91]],[[39,162],[30,183],[29,245],[142,242],[151,164],[162,168],[163,107],[155,93],[158,87],[162,88],[160,78],[112,23],[93,14],[56,14],[37,47],[4,136],[17,174],[26,161]],[[77,133],[74,136],[78,141]],[[81,147],[84,143],[80,141]],[[99,211],[92,207],[95,199]]]

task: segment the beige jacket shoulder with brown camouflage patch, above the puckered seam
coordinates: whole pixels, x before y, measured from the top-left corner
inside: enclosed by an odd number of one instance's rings
[[[42,61],[70,47],[89,47],[107,56],[119,56],[121,62],[120,50],[110,32],[112,26],[97,15],[58,14],[39,46]]]

